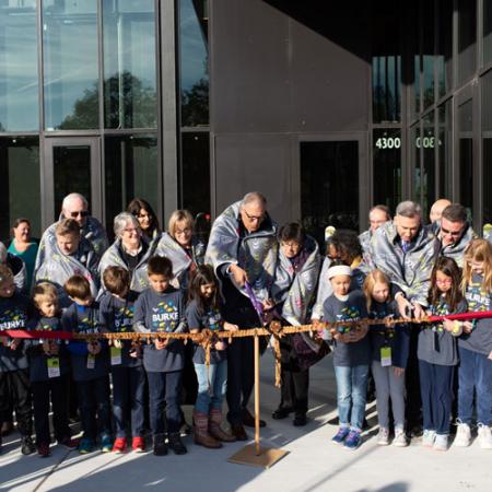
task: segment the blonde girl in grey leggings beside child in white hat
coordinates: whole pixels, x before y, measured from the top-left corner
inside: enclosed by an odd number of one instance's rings
[[[368,317],[382,321],[395,317],[398,306],[391,296],[389,279],[380,270],[373,270],[364,281],[364,295]],[[406,325],[372,325],[372,372],[376,385],[376,408],[379,422],[377,444],[389,444],[389,398],[395,419],[394,446],[408,446],[405,435],[405,368],[409,352]]]

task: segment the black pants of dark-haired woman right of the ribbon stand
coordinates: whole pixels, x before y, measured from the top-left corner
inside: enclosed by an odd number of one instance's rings
[[[307,394],[309,390],[309,370],[298,366],[290,337],[280,341],[281,352],[281,377],[280,406],[279,408],[291,408],[295,415],[305,415],[307,412]]]

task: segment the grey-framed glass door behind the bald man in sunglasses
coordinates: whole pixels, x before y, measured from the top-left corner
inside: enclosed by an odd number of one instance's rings
[[[102,219],[101,149],[97,137],[45,140],[43,222],[58,220],[63,197],[83,195],[92,215]]]

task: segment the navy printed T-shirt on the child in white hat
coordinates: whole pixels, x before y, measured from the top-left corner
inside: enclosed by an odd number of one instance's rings
[[[355,290],[349,293],[347,301],[339,300],[331,294],[323,305],[324,320],[328,323],[365,318],[367,311],[365,307],[365,297],[361,291]],[[339,332],[350,331],[350,325],[339,326]],[[342,341],[335,342],[333,364],[344,367],[354,367],[356,365],[368,365],[371,362],[371,344],[368,337],[353,343]]]

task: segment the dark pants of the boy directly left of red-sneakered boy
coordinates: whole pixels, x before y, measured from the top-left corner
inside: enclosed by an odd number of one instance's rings
[[[109,434],[112,432],[109,377],[78,380],[77,396],[84,437],[95,441],[97,432]]]

